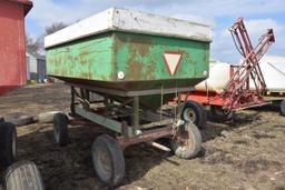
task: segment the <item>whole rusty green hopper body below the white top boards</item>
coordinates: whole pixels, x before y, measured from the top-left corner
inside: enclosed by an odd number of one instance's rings
[[[164,62],[165,51],[181,53],[174,76]],[[48,74],[124,90],[194,87],[206,78],[208,64],[209,42],[118,31],[47,49]]]

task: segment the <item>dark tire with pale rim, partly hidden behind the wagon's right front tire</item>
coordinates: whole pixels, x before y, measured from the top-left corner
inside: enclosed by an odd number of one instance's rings
[[[207,116],[204,107],[196,101],[187,101],[181,111],[181,119],[189,122],[191,121],[199,129],[205,128]]]

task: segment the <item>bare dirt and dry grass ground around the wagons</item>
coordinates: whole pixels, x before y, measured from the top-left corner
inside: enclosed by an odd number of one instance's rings
[[[9,118],[68,111],[69,88],[62,83],[28,86],[0,97]],[[19,159],[35,161],[47,189],[107,189],[94,173],[90,149],[98,127],[72,127],[71,143],[53,142],[52,124],[18,128]],[[208,121],[203,150],[181,160],[146,144],[125,151],[126,178],[118,189],[285,189],[285,117],[273,108],[238,112],[232,121]]]

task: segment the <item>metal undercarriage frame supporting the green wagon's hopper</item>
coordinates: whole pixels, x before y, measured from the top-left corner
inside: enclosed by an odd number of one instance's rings
[[[163,110],[157,112],[140,107],[140,96],[157,94],[160,91],[159,89],[125,92],[77,83],[66,84],[71,87],[70,110],[71,116],[75,116],[69,124],[100,124],[118,134],[116,139],[122,149],[131,144],[174,136],[175,117],[179,116],[181,103],[185,102],[178,100],[178,110],[175,116],[169,110],[168,112]],[[177,92],[180,97],[179,93],[183,91],[185,91],[185,88],[165,89],[164,93]],[[90,92],[101,96],[102,99],[92,101]],[[118,97],[127,99],[120,101]],[[127,120],[129,121],[127,122]],[[140,123],[140,121],[145,122]]]

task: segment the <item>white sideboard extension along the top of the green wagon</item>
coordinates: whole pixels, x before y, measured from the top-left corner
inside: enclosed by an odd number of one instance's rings
[[[127,31],[154,36],[212,41],[212,27],[163,16],[110,8],[45,38],[45,48],[106,31]]]

